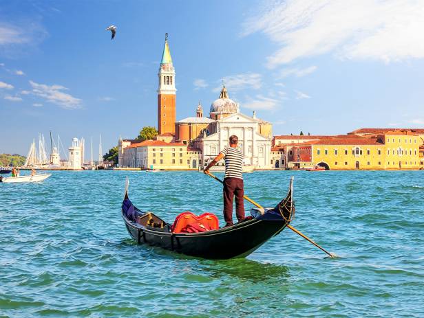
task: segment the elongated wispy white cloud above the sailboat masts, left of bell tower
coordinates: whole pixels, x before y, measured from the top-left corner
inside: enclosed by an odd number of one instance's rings
[[[64,109],[78,109],[81,107],[81,99],[75,98],[74,96],[63,93],[63,90],[67,90],[66,87],[61,85],[46,85],[38,84],[30,80],[32,86],[32,93],[41,98],[45,98],[47,102],[59,105]]]

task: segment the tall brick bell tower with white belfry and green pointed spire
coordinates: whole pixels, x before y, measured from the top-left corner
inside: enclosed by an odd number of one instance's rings
[[[165,46],[158,73],[158,132],[176,132],[176,71],[169,52],[168,34],[165,33]]]

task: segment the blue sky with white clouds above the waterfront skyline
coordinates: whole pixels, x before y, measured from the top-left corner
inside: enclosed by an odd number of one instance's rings
[[[275,135],[423,128],[422,30],[407,0],[0,1],[0,153],[156,126],[165,32],[178,119],[209,113],[224,79]]]

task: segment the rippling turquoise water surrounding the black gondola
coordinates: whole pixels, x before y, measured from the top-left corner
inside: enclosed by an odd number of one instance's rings
[[[220,184],[199,172],[0,184],[0,317],[424,317],[424,171],[254,172],[246,194],[274,206],[292,175],[292,225],[339,258],[290,229],[242,260],[136,245],[120,216],[125,177],[141,209],[222,222]]]

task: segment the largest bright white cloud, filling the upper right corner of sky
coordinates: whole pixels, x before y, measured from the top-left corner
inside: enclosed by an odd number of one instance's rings
[[[280,0],[247,19],[243,35],[263,32],[281,46],[269,68],[328,53],[385,63],[424,58],[423,8],[416,0]]]

